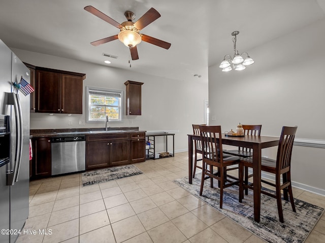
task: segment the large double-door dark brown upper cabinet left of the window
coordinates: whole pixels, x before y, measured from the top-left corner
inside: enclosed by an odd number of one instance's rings
[[[36,67],[36,112],[82,114],[86,74]]]

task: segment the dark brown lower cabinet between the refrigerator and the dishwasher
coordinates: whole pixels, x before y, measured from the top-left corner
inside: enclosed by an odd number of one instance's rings
[[[33,138],[30,179],[51,176],[51,142],[50,138]]]

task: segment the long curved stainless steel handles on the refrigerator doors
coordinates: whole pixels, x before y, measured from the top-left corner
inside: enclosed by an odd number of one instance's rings
[[[10,93],[8,103],[14,106],[15,120],[16,120],[16,148],[15,148],[15,165],[13,171],[7,174],[7,185],[14,185],[18,181],[19,168],[21,163],[21,153],[22,153],[22,111],[19,100],[19,95],[15,93]]]

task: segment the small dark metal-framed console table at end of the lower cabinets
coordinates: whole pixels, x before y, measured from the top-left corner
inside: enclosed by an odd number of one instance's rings
[[[172,136],[173,137],[173,153],[168,153],[166,156],[159,156],[158,158],[166,158],[166,157],[174,157],[174,133],[165,133],[165,132],[152,132],[152,133],[146,133],[146,141],[150,142],[150,147],[146,148],[146,151],[148,151],[148,154],[146,155],[147,158],[152,158],[152,159],[156,159],[156,137],[165,137],[165,141],[166,141],[166,152],[168,152],[168,136]]]

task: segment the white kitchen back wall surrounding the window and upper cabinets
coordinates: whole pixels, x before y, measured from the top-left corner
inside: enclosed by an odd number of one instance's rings
[[[192,132],[192,123],[204,121],[204,100],[208,99],[208,83],[201,79],[197,79],[196,82],[167,79],[133,72],[132,68],[128,71],[19,49],[12,50],[23,62],[32,65],[86,73],[83,114],[49,116],[44,113],[31,113],[30,129],[104,128],[105,123],[86,123],[85,87],[123,90],[125,101],[124,82],[126,80],[144,83],[142,85],[142,115],[124,115],[124,104],[122,123],[113,123],[111,127],[139,127],[140,130],[146,131],[170,131],[175,133],[175,150],[185,151],[187,150],[187,134]],[[69,119],[72,120],[71,126],[68,125]],[[79,125],[79,121],[85,125]]]

